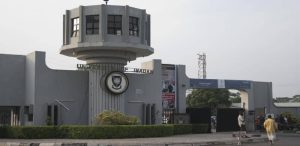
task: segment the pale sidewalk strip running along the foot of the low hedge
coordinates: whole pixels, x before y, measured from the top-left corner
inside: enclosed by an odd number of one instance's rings
[[[212,146],[237,145],[233,132],[208,134],[188,134],[158,138],[132,139],[0,139],[0,146]],[[242,143],[255,143],[267,140],[265,134],[249,133]],[[257,137],[260,135],[260,137]]]

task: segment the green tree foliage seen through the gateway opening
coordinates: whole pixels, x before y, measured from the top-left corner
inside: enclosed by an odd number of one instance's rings
[[[229,107],[229,91],[227,89],[195,89],[187,96],[188,107]]]

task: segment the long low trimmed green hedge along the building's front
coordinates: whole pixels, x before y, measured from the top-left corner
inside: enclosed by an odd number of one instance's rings
[[[206,133],[208,125],[0,126],[0,138],[112,139]]]

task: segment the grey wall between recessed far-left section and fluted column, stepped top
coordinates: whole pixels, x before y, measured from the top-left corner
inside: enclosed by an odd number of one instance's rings
[[[46,123],[51,104],[59,107],[59,124],[88,124],[88,72],[52,70],[45,64],[44,52],[31,56],[35,64],[34,124]]]

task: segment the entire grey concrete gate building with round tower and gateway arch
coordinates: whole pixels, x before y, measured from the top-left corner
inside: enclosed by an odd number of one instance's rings
[[[128,61],[154,53],[150,15],[129,6],[95,5],[67,10],[62,55],[86,61],[78,70],[53,70],[44,52],[0,54],[0,125],[93,125],[104,110],[161,124],[186,112],[186,90],[238,89],[248,129],[255,114],[272,112],[272,83],[249,80],[190,79],[184,65]],[[275,110],[274,110],[275,111]]]

